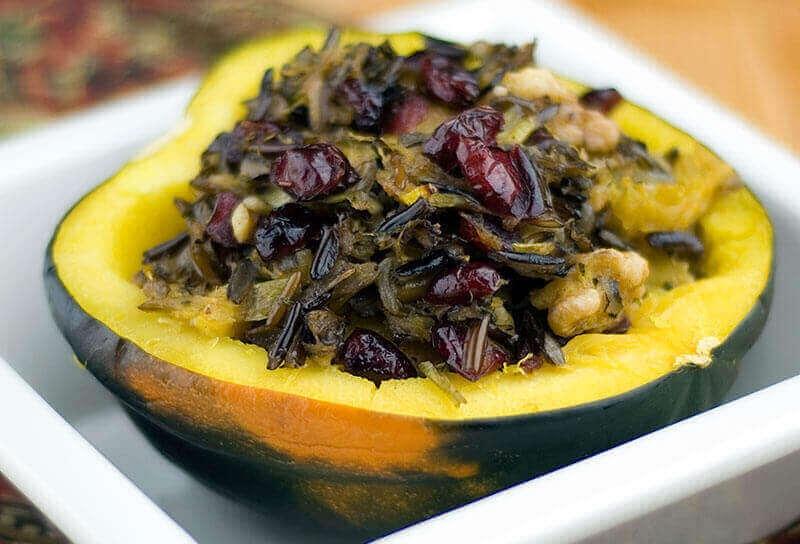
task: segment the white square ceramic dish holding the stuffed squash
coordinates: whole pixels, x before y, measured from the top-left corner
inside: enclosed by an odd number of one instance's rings
[[[770,209],[778,255],[770,321],[728,403],[386,540],[729,544],[800,515],[790,477],[800,469],[800,378],[791,378],[800,373],[800,162],[560,5],[442,3],[374,26],[461,40],[537,36],[543,64],[616,85],[731,162]],[[177,123],[195,84],[171,83],[0,144],[0,472],[80,544],[327,540],[217,495],[161,457],[70,364],[46,306],[41,265],[58,219]]]

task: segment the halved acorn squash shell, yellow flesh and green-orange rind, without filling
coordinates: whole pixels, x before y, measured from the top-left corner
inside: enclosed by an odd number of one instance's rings
[[[682,166],[674,184],[618,187],[615,212],[638,221],[636,228],[656,229],[665,214],[699,217],[702,275],[651,289],[626,334],[573,338],[563,367],[498,372],[475,383],[454,377],[467,399],[455,407],[422,378],[376,389],[333,366],[266,371],[261,348],[138,310],[139,256],[181,228],[172,200],[189,195],[201,152],[244,114],[266,68],[323,38],[295,30],[228,54],[205,78],[185,123],[75,205],[47,250],[50,304],[77,358],[163,448],[240,498],[263,503],[278,495],[372,535],[721,400],[766,320],[770,221],[746,188],[716,189],[732,174],[720,159],[629,103],[612,114],[623,131],[659,153],[677,147]],[[417,34],[388,39],[401,54],[423,47]],[[661,265],[651,265],[657,276]]]

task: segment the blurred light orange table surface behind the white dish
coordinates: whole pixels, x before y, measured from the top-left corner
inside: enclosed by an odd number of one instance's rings
[[[567,1],[800,152],[800,0]],[[299,3],[350,22],[411,1]]]

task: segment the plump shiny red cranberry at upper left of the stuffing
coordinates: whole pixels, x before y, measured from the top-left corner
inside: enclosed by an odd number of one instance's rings
[[[281,153],[272,164],[272,181],[297,200],[326,195],[353,179],[350,163],[331,144],[311,144]]]

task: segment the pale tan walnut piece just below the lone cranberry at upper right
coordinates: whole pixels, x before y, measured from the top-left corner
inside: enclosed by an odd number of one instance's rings
[[[548,127],[559,140],[584,147],[590,153],[609,153],[616,149],[620,138],[614,121],[578,103],[562,104]]]

